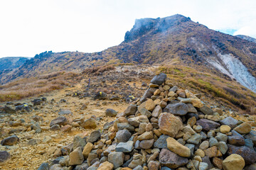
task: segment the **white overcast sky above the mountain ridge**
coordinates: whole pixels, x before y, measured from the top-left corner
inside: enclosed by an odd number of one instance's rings
[[[119,45],[136,18],[176,13],[213,30],[256,38],[255,0],[0,0],[0,57],[97,52]]]

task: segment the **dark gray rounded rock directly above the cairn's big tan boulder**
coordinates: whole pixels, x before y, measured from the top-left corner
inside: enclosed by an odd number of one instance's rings
[[[188,106],[185,103],[169,104],[164,108],[164,112],[174,115],[186,115],[188,113]]]

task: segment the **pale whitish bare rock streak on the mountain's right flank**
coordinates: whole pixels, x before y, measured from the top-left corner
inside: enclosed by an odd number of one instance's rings
[[[218,57],[224,65],[216,60],[208,60],[208,62],[213,65],[213,67],[220,70],[220,72],[223,72],[223,74],[227,74],[230,78],[236,79],[242,86],[256,93],[256,79],[248,72],[248,69],[240,60],[231,54],[218,54]]]

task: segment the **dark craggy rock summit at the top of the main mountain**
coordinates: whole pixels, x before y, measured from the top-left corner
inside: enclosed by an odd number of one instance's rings
[[[149,33],[159,33],[168,30],[171,27],[177,26],[181,22],[191,21],[180,14],[167,16],[165,18],[142,18],[136,19],[132,30],[127,31],[124,36],[124,42],[136,40],[142,35]]]

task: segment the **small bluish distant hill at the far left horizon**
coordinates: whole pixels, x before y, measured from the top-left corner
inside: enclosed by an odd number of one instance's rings
[[[3,57],[0,58],[0,71],[4,69],[15,69],[29,60],[27,57]]]

